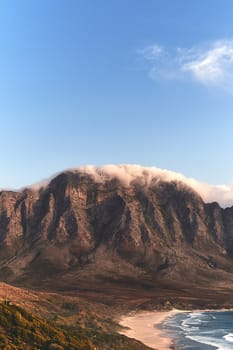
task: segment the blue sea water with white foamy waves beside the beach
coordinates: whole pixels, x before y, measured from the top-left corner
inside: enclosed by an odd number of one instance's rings
[[[233,350],[232,311],[177,314],[163,327],[178,350]]]

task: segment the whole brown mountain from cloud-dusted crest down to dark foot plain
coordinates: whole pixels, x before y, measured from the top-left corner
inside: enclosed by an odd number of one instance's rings
[[[84,168],[1,191],[1,280],[106,303],[233,305],[233,207],[154,172],[126,180]]]

